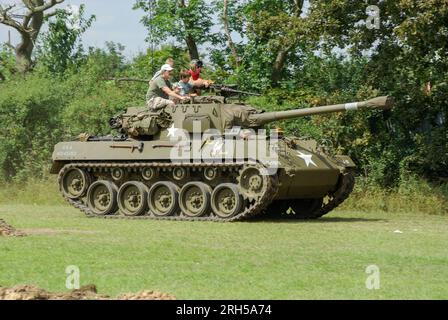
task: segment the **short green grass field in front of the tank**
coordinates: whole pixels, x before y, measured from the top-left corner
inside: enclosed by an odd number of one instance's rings
[[[0,205],[0,218],[60,231],[0,238],[2,286],[65,291],[65,268],[76,265],[81,285],[112,296],[148,289],[178,299],[448,298],[443,215],[339,211],[312,222],[220,224],[88,219],[68,206]],[[372,264],[380,268],[379,290],[365,286]]]

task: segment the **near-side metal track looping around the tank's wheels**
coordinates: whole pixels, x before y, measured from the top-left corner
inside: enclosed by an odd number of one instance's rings
[[[128,171],[137,171],[141,168],[157,168],[160,170],[170,170],[173,168],[189,168],[192,170],[202,170],[204,168],[219,168],[219,169],[225,169],[225,170],[233,170],[234,172],[240,172],[242,168],[245,166],[248,166],[248,164],[245,163],[233,163],[233,164],[227,164],[227,163],[190,163],[190,164],[175,164],[175,163],[168,163],[168,162],[149,162],[149,163],[143,163],[143,162],[137,162],[137,163],[123,163],[123,162],[115,162],[115,163],[101,163],[101,162],[73,162],[65,165],[61,171],[59,172],[58,176],[58,183],[59,183],[59,189],[64,197],[64,199],[73,207],[81,210],[86,214],[89,218],[100,218],[100,219],[131,219],[131,220],[168,220],[168,221],[211,221],[211,222],[236,222],[236,221],[244,221],[253,218],[256,215],[259,215],[263,212],[263,210],[273,201],[273,198],[275,197],[277,191],[278,191],[278,177],[277,175],[271,175],[271,176],[264,176],[265,180],[265,187],[263,188],[263,192],[260,195],[258,200],[254,200],[251,202],[246,201],[246,207],[244,210],[240,213],[238,213],[235,216],[232,216],[230,218],[221,218],[216,216],[215,214],[211,213],[208,216],[203,217],[188,217],[184,215],[182,212],[179,212],[177,215],[174,216],[155,216],[152,214],[149,210],[144,215],[141,216],[126,216],[119,211],[115,212],[111,215],[105,215],[100,216],[94,214],[88,205],[83,201],[83,199],[70,199],[67,196],[65,196],[64,192],[62,191],[61,187],[61,181],[64,176],[64,173],[66,173],[68,170],[73,168],[79,168],[84,169],[87,171],[93,171],[93,172],[108,172],[111,171],[114,168],[124,168]],[[249,166],[256,166],[260,169],[263,168],[261,164],[253,164]],[[93,181],[92,181],[93,182]],[[237,182],[237,181],[235,181]],[[180,210],[179,210],[180,211]]]

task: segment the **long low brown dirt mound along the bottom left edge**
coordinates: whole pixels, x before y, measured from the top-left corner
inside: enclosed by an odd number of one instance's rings
[[[157,292],[141,291],[139,293],[126,293],[111,298],[100,295],[96,286],[88,285],[67,293],[50,293],[35,286],[16,286],[14,288],[0,287],[0,300],[175,300],[174,296]]]

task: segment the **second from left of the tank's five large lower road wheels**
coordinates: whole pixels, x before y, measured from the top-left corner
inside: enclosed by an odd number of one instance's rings
[[[147,208],[148,187],[141,182],[123,184],[118,191],[118,207],[126,216],[140,216]]]

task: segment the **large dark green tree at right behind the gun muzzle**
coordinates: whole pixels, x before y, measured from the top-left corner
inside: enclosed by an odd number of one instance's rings
[[[310,1],[308,11],[320,50],[339,47],[350,60],[367,58],[357,98],[388,94],[396,100],[390,114],[347,114],[331,124],[346,129],[327,134],[350,153],[357,149],[358,163],[382,185],[409,174],[446,179],[448,3]]]

